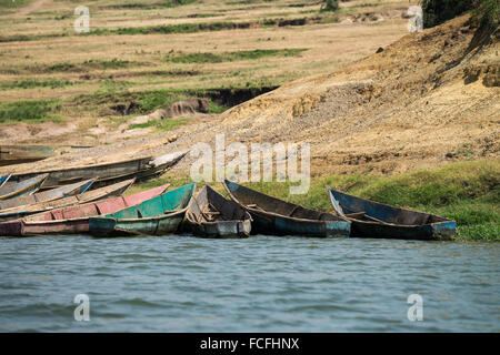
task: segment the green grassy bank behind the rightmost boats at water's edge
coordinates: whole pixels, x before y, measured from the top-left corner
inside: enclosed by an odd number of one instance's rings
[[[188,174],[167,173],[139,184],[129,193],[161,183],[180,186]],[[290,195],[291,183],[249,183],[252,189],[301,204],[331,211],[324,185],[411,210],[436,213],[457,221],[459,241],[500,241],[500,160],[450,163],[396,176],[333,175],[311,181],[308,194]],[[220,183],[213,184],[222,191]]]

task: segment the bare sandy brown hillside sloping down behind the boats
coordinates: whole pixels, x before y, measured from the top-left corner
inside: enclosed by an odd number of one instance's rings
[[[79,164],[189,148],[193,142],[309,142],[314,175],[399,173],[499,155],[499,34],[478,40],[468,16],[407,34],[383,51],[300,79],[149,138],[38,164]],[[119,148],[119,154],[117,154]],[[178,170],[189,170],[189,159]]]

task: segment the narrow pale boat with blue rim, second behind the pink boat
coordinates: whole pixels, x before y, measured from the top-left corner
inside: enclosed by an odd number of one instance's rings
[[[90,189],[96,179],[86,180],[74,184],[64,185],[61,187],[47,190],[43,192],[37,192],[31,195],[20,196],[16,199],[9,199],[0,201],[0,214],[8,209],[14,209],[19,206],[27,206],[37,203],[43,203],[54,201],[59,199],[69,197],[71,195],[78,195]]]

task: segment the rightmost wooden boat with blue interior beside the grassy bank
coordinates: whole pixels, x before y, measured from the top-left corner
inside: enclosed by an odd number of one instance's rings
[[[450,240],[457,224],[438,215],[372,202],[327,186],[333,210],[351,221],[352,237]]]

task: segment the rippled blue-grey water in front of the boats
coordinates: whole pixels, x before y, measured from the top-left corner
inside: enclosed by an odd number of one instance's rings
[[[0,239],[0,331],[500,332],[500,245]],[[77,294],[90,321],[73,317]],[[410,322],[410,294],[423,321]]]

